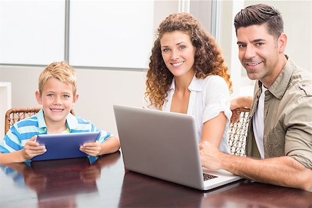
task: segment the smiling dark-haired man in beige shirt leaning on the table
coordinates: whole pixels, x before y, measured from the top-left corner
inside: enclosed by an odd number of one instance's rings
[[[221,153],[206,141],[200,144],[202,166],[311,191],[311,74],[284,55],[287,37],[275,8],[248,6],[236,15],[234,26],[241,64],[250,79],[258,80],[250,110],[248,157]]]

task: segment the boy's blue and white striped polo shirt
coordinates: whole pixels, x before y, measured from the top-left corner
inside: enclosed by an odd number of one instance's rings
[[[67,130],[62,133],[101,131],[101,135],[97,139],[101,143],[112,137],[110,133],[97,129],[90,121],[73,116],[71,113],[67,115],[66,121]],[[44,134],[49,134],[49,132],[47,132],[46,122],[44,121],[44,113],[40,110],[35,116],[12,125],[4,139],[0,141],[0,153],[12,153],[21,150],[31,137]]]

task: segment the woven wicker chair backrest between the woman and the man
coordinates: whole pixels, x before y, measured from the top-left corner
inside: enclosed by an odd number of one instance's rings
[[[249,112],[250,109],[244,107],[232,110],[231,122],[229,123],[229,152],[232,155],[246,155]]]

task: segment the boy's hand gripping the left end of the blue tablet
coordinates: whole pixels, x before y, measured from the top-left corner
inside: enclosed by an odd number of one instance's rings
[[[40,146],[40,144],[35,141],[36,139],[37,135],[31,137],[31,139],[26,142],[24,149],[22,150],[25,160],[31,159],[37,155],[42,155],[46,152],[46,146]]]

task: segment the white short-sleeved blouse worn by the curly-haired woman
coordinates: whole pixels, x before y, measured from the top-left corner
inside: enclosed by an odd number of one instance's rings
[[[202,139],[202,126],[204,123],[210,119],[214,119],[220,112],[224,112],[227,117],[227,123],[219,149],[224,153],[229,153],[227,138],[232,111],[229,109],[230,99],[227,83],[220,76],[207,76],[204,79],[194,76],[189,85],[189,90],[191,94],[189,96],[187,114],[195,117],[198,143]],[[174,92],[175,79],[173,78],[171,87],[168,90],[168,96],[162,107],[163,111],[170,112]],[[155,109],[155,107],[149,105],[150,103],[145,103],[144,107]]]

